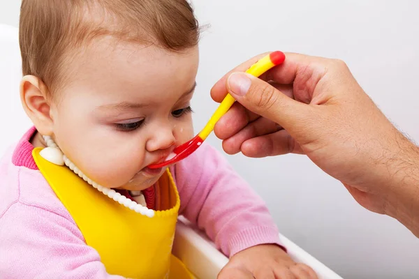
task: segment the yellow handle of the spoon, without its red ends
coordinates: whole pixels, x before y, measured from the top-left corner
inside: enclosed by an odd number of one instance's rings
[[[253,66],[251,66],[246,71],[246,73],[255,77],[259,77],[274,66],[275,64],[272,63],[270,59],[270,54],[268,54],[267,56],[254,63]],[[212,130],[214,130],[215,123],[219,121],[221,116],[223,116],[224,114],[226,114],[228,110],[230,110],[230,107],[234,104],[234,102],[235,98],[233,98],[233,96],[231,96],[230,93],[227,93],[226,98],[224,98],[224,100],[221,102],[214,114],[212,114],[210,121],[208,121],[207,125],[198,134],[201,139],[205,140],[210,135],[210,133],[212,133]]]

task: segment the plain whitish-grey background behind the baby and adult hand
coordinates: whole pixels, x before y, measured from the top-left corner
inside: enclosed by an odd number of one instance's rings
[[[418,2],[193,3],[200,22],[211,24],[201,40],[196,130],[216,108],[209,91],[221,75],[255,54],[283,50],[344,59],[381,110],[419,140]],[[17,26],[19,6],[1,0],[0,23]],[[18,105],[18,84],[10,84],[0,91],[0,152],[29,123]],[[221,150],[215,137],[209,142]],[[228,160],[266,200],[281,232],[344,278],[419,278],[419,240],[397,221],[362,209],[304,156]]]

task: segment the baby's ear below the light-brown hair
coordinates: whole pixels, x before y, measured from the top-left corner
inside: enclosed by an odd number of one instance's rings
[[[34,75],[25,75],[20,82],[20,100],[24,111],[41,135],[52,135],[53,121],[47,86]]]

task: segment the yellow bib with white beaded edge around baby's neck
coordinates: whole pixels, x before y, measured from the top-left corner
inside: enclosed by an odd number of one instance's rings
[[[169,171],[156,186],[157,211],[148,218],[98,192],[68,167],[48,162],[40,151],[32,153],[36,165],[108,273],[126,278],[193,278],[171,255],[180,200]]]

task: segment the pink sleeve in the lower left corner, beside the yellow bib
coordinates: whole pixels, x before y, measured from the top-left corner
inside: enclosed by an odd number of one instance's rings
[[[72,220],[20,202],[0,216],[0,251],[1,278],[122,278],[105,271]]]

